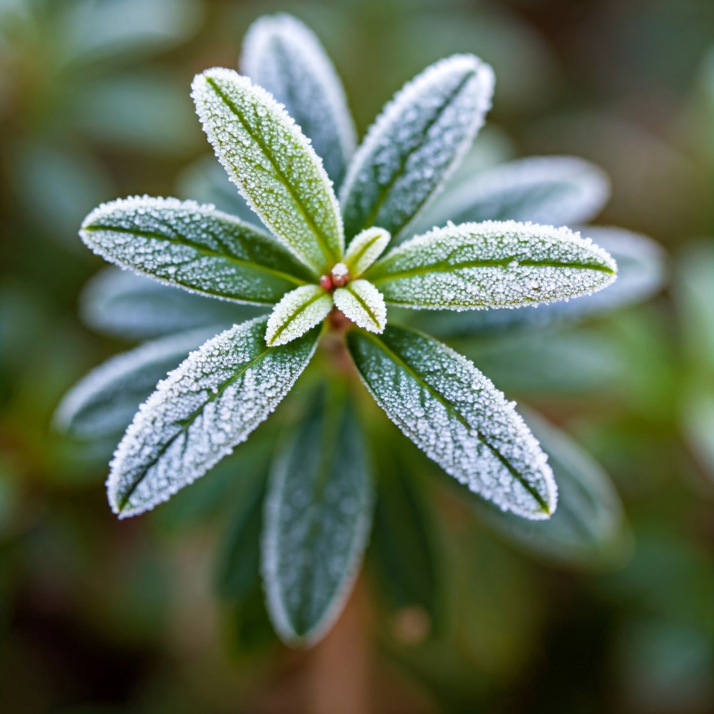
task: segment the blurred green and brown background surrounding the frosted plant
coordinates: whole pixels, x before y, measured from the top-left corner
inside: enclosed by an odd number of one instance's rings
[[[431,61],[478,54],[497,76],[480,161],[590,159],[613,179],[596,222],[665,246],[650,303],[479,363],[613,478],[632,534],[615,565],[522,553],[430,477],[446,624],[379,606],[371,552],[333,633],[290,652],[256,593],[216,587],[225,492],[207,478],[119,523],[112,445],[51,430],[67,388],[131,346],[77,316],[102,265],[81,218],[202,198],[191,78],[236,66],[278,10],[320,36],[361,133]],[[1,711],[714,712],[714,3],[0,0],[0,172]]]

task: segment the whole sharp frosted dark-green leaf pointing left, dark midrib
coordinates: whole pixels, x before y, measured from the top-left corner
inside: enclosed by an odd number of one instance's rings
[[[194,201],[120,198],[89,213],[79,234],[112,263],[223,300],[272,305],[311,279],[274,238]]]

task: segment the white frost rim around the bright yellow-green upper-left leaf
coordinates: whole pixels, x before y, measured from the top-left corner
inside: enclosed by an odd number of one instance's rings
[[[308,139],[305,134],[303,134],[300,127],[295,123],[295,120],[288,114],[287,111],[285,111],[285,106],[283,104],[280,104],[280,102],[276,101],[276,99],[273,97],[272,94],[270,94],[270,92],[266,91],[257,84],[253,84],[249,77],[246,77],[242,74],[238,74],[238,72],[233,69],[226,69],[226,67],[211,67],[210,69],[204,69],[203,72],[201,72],[200,74],[196,74],[196,76],[193,77],[193,81],[191,82],[191,99],[193,99],[193,103],[196,105],[196,114],[198,114],[198,119],[201,120],[201,126],[203,126],[203,131],[205,131],[206,136],[208,136],[208,141],[211,143],[211,146],[213,146],[213,151],[216,154],[216,158],[218,159],[218,161],[221,162],[223,169],[226,169],[228,178],[230,178],[233,184],[235,184],[236,188],[238,188],[238,193],[243,196],[243,199],[246,201],[246,203],[248,203],[248,206],[250,206],[253,213],[255,213],[256,216],[258,216],[258,218],[260,218],[261,221],[263,221],[263,223],[265,223],[265,225],[271,229],[273,235],[276,236],[276,238],[278,238],[285,245],[285,247],[288,248],[288,250],[291,251],[291,253],[293,253],[293,255],[299,261],[301,261],[301,263],[308,266],[308,268],[311,268],[312,271],[319,271],[320,266],[313,266],[311,265],[311,263],[306,262],[306,259],[303,256],[300,256],[298,253],[296,253],[295,249],[291,246],[288,246],[288,243],[286,243],[286,241],[283,241],[280,234],[274,231],[273,226],[271,225],[271,221],[269,221],[266,216],[263,216],[263,213],[258,210],[258,206],[256,206],[256,203],[250,196],[248,196],[248,192],[243,188],[243,183],[238,180],[238,176],[236,176],[236,173],[235,171],[233,171],[232,166],[228,163],[228,160],[223,159],[223,156],[221,155],[221,145],[218,141],[216,133],[213,131],[211,117],[208,116],[208,113],[206,112],[203,106],[202,95],[208,94],[209,92],[213,93],[213,89],[208,84],[208,77],[211,77],[211,79],[222,79],[223,81],[233,82],[238,86],[239,89],[242,89],[243,91],[252,94],[253,99],[256,99],[256,102],[258,104],[262,104],[264,107],[266,107],[266,109],[268,109],[268,111],[271,111],[273,113],[276,122],[283,125],[283,129],[285,129],[288,134],[291,134],[291,136],[293,136],[293,138],[298,141],[298,144],[300,144],[301,148],[304,149],[310,159],[314,161],[318,174],[325,183],[325,188],[330,199],[331,207],[338,228],[341,251],[344,251],[345,229],[342,222],[342,212],[340,210],[340,204],[337,201],[337,196],[335,195],[335,189],[333,186],[332,179],[327,175],[327,171],[325,171],[325,167],[322,164],[321,157],[318,156],[315,150],[312,148],[310,139]]]

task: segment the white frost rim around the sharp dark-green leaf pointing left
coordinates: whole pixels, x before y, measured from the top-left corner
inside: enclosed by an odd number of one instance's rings
[[[100,203],[99,206],[97,206],[87,214],[86,218],[84,218],[84,221],[82,221],[82,224],[79,228],[79,237],[82,239],[84,245],[87,246],[90,251],[92,251],[92,253],[97,256],[100,256],[101,258],[104,258],[104,260],[108,263],[112,263],[115,266],[119,266],[119,268],[121,268],[122,270],[131,271],[136,275],[144,276],[145,278],[151,278],[151,280],[156,281],[157,283],[161,283],[161,285],[168,285],[171,288],[178,288],[179,290],[186,291],[187,293],[201,295],[204,298],[223,300],[227,303],[236,303],[238,305],[257,305],[261,307],[270,307],[273,305],[273,303],[257,303],[248,300],[236,300],[236,298],[228,298],[222,295],[213,295],[213,293],[206,293],[202,290],[198,290],[198,288],[188,288],[185,285],[181,285],[181,283],[170,281],[167,278],[159,278],[159,276],[154,275],[154,273],[149,273],[148,271],[143,271],[139,268],[135,268],[134,266],[129,266],[125,263],[122,263],[119,258],[116,258],[108,251],[105,251],[104,248],[97,245],[96,243],[94,243],[94,241],[91,240],[92,234],[99,231],[89,230],[89,226],[91,225],[91,223],[94,223],[94,221],[97,221],[99,218],[102,218],[104,216],[111,216],[112,212],[117,208],[150,208],[152,210],[155,208],[159,210],[161,210],[162,208],[187,208],[191,211],[201,211],[208,218],[218,218],[221,221],[229,221],[231,223],[236,223],[236,225],[240,228],[247,228],[250,231],[260,233],[264,238],[268,238],[268,240],[275,240],[275,238],[273,238],[273,236],[271,236],[270,234],[261,231],[260,228],[258,228],[257,226],[253,226],[251,223],[241,221],[241,219],[236,218],[236,216],[231,216],[230,213],[223,213],[223,211],[218,211],[218,208],[216,208],[216,206],[213,206],[213,203],[198,203],[197,201],[192,201],[191,199],[187,201],[181,201],[178,198],[148,196],[146,193],[144,194],[144,196],[127,196],[126,198],[115,198],[114,201]],[[111,231],[113,230],[113,228],[102,228],[101,232],[111,233]],[[281,246],[283,248],[287,247],[282,241]],[[291,255],[295,256],[295,253],[293,253],[293,251],[290,252]],[[295,257],[298,258],[298,256]],[[298,258],[298,260],[300,260],[300,258]],[[303,263],[303,265],[305,264],[302,260],[301,263]]]

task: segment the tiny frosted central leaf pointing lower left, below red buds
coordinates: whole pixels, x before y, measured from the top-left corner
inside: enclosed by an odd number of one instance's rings
[[[273,308],[266,342],[271,347],[285,345],[321,323],[332,309],[332,296],[320,286],[303,285],[286,294]]]

